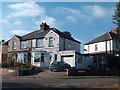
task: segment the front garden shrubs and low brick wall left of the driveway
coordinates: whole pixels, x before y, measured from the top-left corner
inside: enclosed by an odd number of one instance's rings
[[[9,60],[1,64],[2,75],[24,76],[41,72],[41,68],[31,65],[31,63],[19,63]]]

